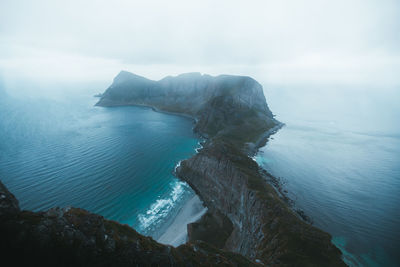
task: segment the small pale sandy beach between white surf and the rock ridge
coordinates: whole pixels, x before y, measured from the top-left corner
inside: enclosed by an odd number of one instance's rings
[[[197,195],[189,199],[181,208],[171,225],[157,240],[162,244],[177,247],[187,241],[187,224],[200,219],[207,211]]]

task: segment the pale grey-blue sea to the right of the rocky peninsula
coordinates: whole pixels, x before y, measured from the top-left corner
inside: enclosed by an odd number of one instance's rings
[[[396,98],[361,91],[344,101],[341,93],[295,89],[270,94],[286,125],[257,162],[281,179],[296,208],[333,236],[350,266],[400,266]]]

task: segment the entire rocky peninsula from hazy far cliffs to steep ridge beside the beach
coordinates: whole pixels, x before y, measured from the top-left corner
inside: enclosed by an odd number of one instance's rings
[[[254,79],[189,73],[152,81],[121,72],[97,105],[145,105],[195,119],[204,148],[176,174],[209,211],[188,226],[190,242],[268,266],[344,266],[331,236],[290,210],[249,157],[280,125]]]

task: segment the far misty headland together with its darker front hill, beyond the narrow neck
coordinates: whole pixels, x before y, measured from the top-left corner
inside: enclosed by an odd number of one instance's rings
[[[152,81],[122,71],[96,105],[145,105],[190,115],[196,118],[195,131],[201,135],[228,136],[239,142],[277,124],[262,86],[245,76],[186,73]]]

